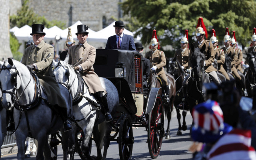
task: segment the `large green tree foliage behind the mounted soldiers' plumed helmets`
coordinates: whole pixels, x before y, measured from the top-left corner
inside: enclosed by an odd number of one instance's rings
[[[207,28],[208,39],[212,28],[220,43],[225,36],[225,28],[236,32],[236,40],[248,46],[253,28],[256,27],[255,0],[126,0],[122,3],[124,15],[131,15],[131,24],[137,35],[142,35],[142,43],[150,42],[152,30],[157,30],[161,45],[180,47],[181,36],[189,30],[189,42],[195,40],[198,18],[202,17]]]

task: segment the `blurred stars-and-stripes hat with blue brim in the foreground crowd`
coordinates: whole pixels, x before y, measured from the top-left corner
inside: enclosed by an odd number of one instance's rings
[[[229,133],[232,127],[224,123],[223,112],[216,101],[207,100],[192,111],[194,126],[191,137],[194,141],[213,143]]]

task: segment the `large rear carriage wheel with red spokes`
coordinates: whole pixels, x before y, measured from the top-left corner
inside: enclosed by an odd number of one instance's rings
[[[160,153],[163,135],[163,104],[160,95],[157,95],[153,110],[148,115],[148,149],[152,159],[156,159]]]

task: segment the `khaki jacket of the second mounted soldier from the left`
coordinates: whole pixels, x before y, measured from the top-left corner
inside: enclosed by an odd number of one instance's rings
[[[175,52],[174,57],[178,60],[178,62],[184,67],[184,70],[189,68],[189,49],[186,48],[185,51],[183,49],[178,49]]]

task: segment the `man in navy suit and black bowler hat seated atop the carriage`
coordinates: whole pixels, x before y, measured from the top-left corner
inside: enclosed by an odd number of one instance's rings
[[[133,36],[123,33],[123,30],[125,29],[123,21],[116,21],[115,25],[113,26],[115,27],[116,35],[108,37],[105,49],[123,49],[136,51]]]

